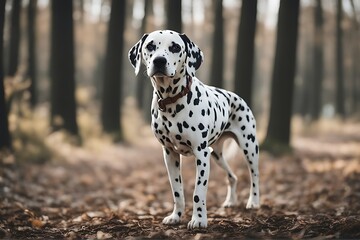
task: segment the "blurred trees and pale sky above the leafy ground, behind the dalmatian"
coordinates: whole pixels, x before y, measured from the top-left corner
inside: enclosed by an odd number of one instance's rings
[[[294,116],[303,127],[359,119],[357,1],[303,0],[298,9],[284,3],[293,20],[281,14],[278,20],[279,1],[65,2],[2,3],[1,123],[8,112],[10,132],[2,127],[2,147],[23,150],[26,141],[61,129],[78,142],[102,132],[129,140],[136,133],[122,121],[126,109],[141,112],[136,124],[148,122],[152,89],[146,77],[135,77],[127,52],[143,33],[165,28],[201,47],[199,79],[252,106],[261,139],[269,140],[264,146],[289,144]]]

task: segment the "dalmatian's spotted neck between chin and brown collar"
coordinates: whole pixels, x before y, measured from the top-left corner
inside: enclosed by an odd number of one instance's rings
[[[153,76],[151,82],[159,99],[177,96],[184,91],[188,84],[185,75],[175,77]]]

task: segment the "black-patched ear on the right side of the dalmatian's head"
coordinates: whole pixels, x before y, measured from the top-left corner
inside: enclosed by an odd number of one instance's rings
[[[186,34],[180,34],[180,37],[184,41],[186,48],[186,71],[190,76],[195,77],[195,71],[204,61],[204,54],[200,48],[186,36]]]

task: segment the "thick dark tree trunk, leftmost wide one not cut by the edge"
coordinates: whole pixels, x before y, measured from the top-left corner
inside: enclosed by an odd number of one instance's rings
[[[51,126],[78,134],[72,0],[51,1]]]

